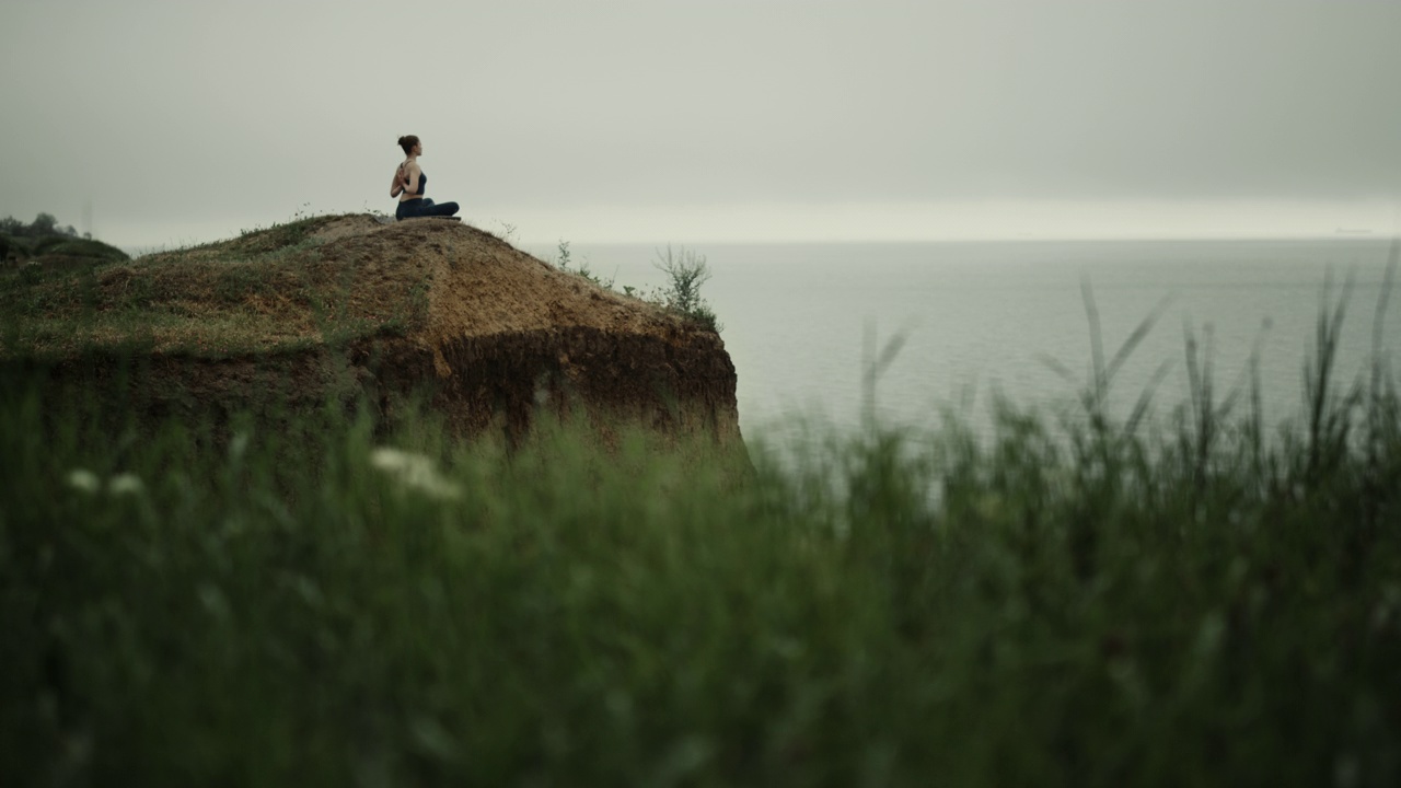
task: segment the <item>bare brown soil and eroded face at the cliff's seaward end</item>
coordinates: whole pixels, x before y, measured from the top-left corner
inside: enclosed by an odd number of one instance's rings
[[[371,233],[416,248],[433,282],[423,330],[408,337],[417,358],[381,369],[405,376],[392,390],[432,369],[433,401],[462,433],[493,421],[520,432],[545,408],[738,439],[734,365],[716,332],[458,223]]]

